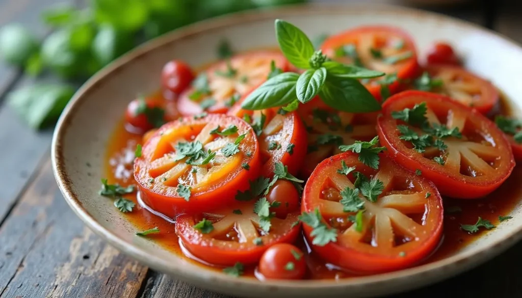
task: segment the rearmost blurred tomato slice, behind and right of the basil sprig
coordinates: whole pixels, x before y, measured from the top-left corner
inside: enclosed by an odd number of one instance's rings
[[[330,58],[386,74],[397,74],[398,81],[416,75],[419,63],[413,39],[402,29],[389,26],[365,26],[344,31],[325,40],[321,49]],[[381,98],[382,78],[364,80],[364,86]],[[388,86],[393,94],[399,82]]]

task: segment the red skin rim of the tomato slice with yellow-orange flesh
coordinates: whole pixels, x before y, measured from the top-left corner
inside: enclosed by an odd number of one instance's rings
[[[194,120],[193,117],[185,117],[181,120],[181,122],[191,123],[197,121],[205,121],[205,119],[208,118],[212,119],[219,117],[223,118],[220,120],[222,122],[226,121],[227,119],[232,119],[231,122],[228,123],[234,123],[238,127],[245,127],[248,125],[246,122],[239,118],[224,115],[208,115],[204,119],[199,120]],[[250,188],[249,181],[255,180],[259,176],[261,170],[259,145],[257,143],[257,139],[253,137],[255,150],[253,150],[254,152],[249,163],[250,169],[248,169],[248,171],[240,171],[226,184],[221,186],[215,185],[215,189],[205,190],[205,192],[202,192],[197,195],[193,194],[189,201],[186,201],[183,198],[176,196],[172,193],[169,193],[168,195],[163,195],[153,192],[149,188],[149,185],[147,183],[148,178],[145,178],[148,175],[145,173],[146,168],[144,165],[144,163],[146,163],[144,159],[147,154],[146,152],[148,151],[147,147],[152,146],[155,143],[157,144],[163,132],[168,131],[176,125],[178,125],[178,123],[174,121],[160,127],[160,129],[158,129],[152,136],[150,136],[147,142],[143,145],[142,156],[140,158],[137,158],[134,162],[134,177],[140,191],[140,198],[147,206],[149,206],[153,210],[161,212],[162,214],[170,218],[175,218],[177,214],[181,213],[196,213],[203,212],[204,210],[210,210],[219,207],[222,204],[234,202],[235,195],[238,192],[238,190],[244,191]],[[165,192],[168,191],[165,190]],[[216,200],[216,197],[219,197],[220,200]]]

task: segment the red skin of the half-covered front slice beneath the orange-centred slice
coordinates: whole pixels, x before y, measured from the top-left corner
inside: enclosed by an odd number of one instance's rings
[[[297,219],[298,214],[294,214]],[[256,264],[263,253],[270,245],[248,245],[248,248],[235,249],[219,249],[213,247],[211,243],[204,243],[204,239],[200,233],[194,233],[194,218],[188,214],[182,214],[176,218],[176,234],[180,237],[180,245],[194,257],[203,260],[209,264],[220,266],[233,266],[240,262],[244,265]],[[300,224],[291,228],[287,233],[281,235],[277,243],[293,243],[299,236],[301,231]]]

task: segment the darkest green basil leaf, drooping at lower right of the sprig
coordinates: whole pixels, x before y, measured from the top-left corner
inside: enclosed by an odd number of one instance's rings
[[[332,108],[345,112],[366,113],[381,110],[381,104],[356,79],[328,76],[319,97]]]

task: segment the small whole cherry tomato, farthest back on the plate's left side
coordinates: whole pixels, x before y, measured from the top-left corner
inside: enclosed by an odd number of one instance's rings
[[[183,92],[192,80],[194,80],[194,73],[191,67],[180,60],[167,62],[161,71],[161,85],[175,94]]]

